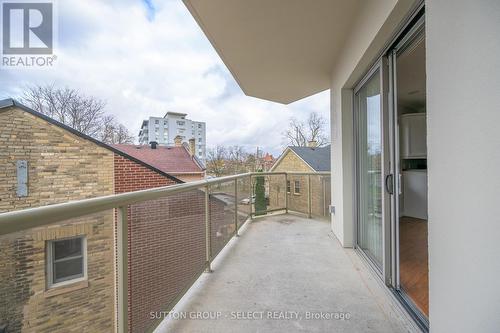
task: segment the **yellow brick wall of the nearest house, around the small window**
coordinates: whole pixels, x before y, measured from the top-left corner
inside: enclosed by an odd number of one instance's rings
[[[113,153],[17,108],[0,110],[0,212],[113,193]],[[28,161],[28,196],[16,161]],[[0,238],[0,322],[9,332],[114,329],[113,212]],[[70,223],[71,222],[71,223]],[[46,241],[85,235],[88,280],[48,289]]]

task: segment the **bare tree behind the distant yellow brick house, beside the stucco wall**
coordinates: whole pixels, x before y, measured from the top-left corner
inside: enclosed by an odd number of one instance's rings
[[[290,118],[288,128],[283,132],[286,145],[306,147],[309,141],[318,146],[328,144],[326,120],[316,112],[311,112],[305,122]]]

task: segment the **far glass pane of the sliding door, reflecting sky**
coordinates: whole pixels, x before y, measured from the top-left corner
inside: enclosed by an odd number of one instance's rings
[[[380,70],[355,94],[357,246],[382,271],[382,109]]]

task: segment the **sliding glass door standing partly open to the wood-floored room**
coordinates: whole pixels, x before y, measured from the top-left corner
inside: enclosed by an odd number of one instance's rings
[[[355,245],[428,329],[423,9],[354,89]]]

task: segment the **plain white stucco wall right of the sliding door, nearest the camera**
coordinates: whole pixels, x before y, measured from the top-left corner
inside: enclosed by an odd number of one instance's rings
[[[432,332],[500,332],[500,1],[429,0]]]

